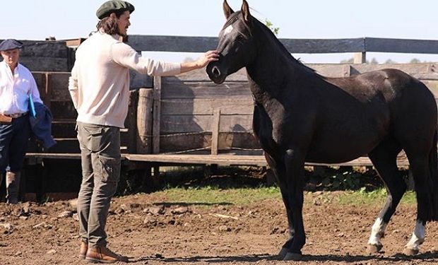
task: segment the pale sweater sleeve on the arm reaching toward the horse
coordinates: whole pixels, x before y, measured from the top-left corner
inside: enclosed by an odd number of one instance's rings
[[[112,60],[119,65],[128,67],[148,76],[174,76],[181,73],[181,64],[165,61],[154,61],[141,57],[135,49],[123,42],[112,45]]]

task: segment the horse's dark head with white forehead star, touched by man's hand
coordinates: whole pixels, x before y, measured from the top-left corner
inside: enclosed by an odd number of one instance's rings
[[[228,75],[247,66],[256,54],[251,30],[254,18],[249,13],[247,1],[243,0],[241,11],[234,12],[224,0],[223,11],[227,22],[219,33],[220,57],[207,66],[208,77],[218,84],[223,83]]]

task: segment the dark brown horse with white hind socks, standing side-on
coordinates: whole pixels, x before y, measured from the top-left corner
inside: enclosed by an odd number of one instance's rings
[[[219,61],[207,67],[215,83],[247,68],[254,95],[254,133],[278,178],[289,238],[280,259],[300,259],[304,163],[343,163],[368,155],[388,190],[372,226],[369,250],[381,249],[406,184],[396,158],[403,149],[415,181],[418,215],[406,254],[417,254],[427,221],[438,219],[437,105],[427,87],[403,71],[384,69],[328,78],[293,58],[271,30],[249,13],[232,11],[220,31]]]

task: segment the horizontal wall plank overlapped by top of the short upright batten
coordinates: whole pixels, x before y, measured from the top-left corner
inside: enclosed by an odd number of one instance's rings
[[[250,96],[161,100],[162,115],[213,114],[213,110],[219,107],[221,114],[253,114],[254,100]]]

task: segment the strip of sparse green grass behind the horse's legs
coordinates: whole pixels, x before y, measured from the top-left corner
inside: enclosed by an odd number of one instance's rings
[[[189,187],[170,188],[158,195],[165,196],[168,203],[197,204],[199,206],[212,205],[247,205],[256,201],[265,199],[281,200],[280,190],[278,187],[259,187],[259,188],[237,188],[237,189],[220,189],[218,187]],[[304,193],[304,203],[313,204],[315,199],[320,204],[384,204],[386,200],[386,190],[376,189],[372,192],[366,192],[365,189],[347,192],[322,192],[322,193]],[[407,192],[401,201],[401,204],[415,204],[415,193]]]

